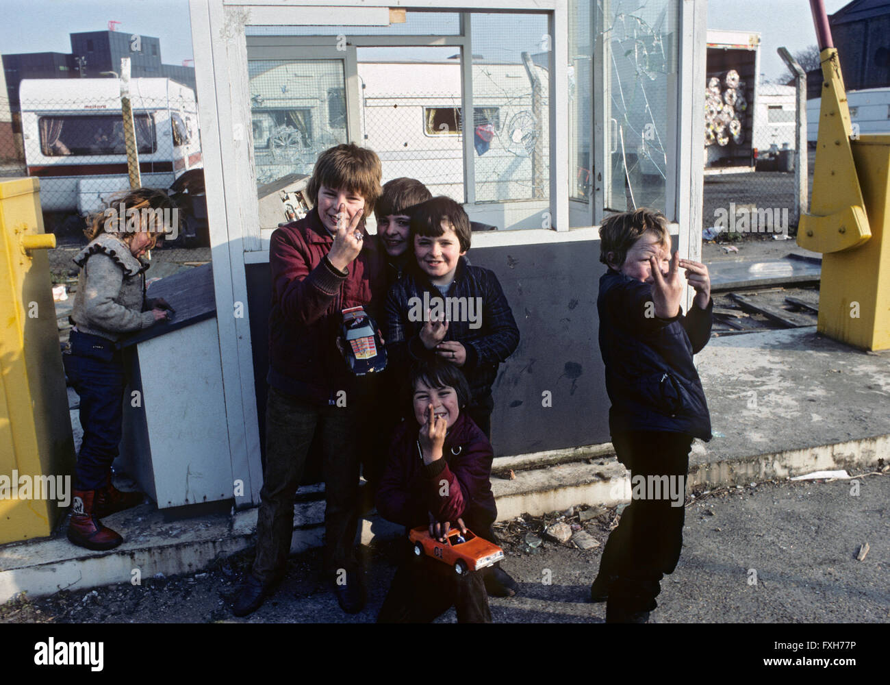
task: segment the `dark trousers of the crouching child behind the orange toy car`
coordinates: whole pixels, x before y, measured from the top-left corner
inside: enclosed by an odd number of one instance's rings
[[[480,572],[457,575],[454,567],[427,556],[416,557],[406,542],[406,559],[392,579],[379,624],[432,622],[449,608],[459,624],[490,624],[489,597]]]

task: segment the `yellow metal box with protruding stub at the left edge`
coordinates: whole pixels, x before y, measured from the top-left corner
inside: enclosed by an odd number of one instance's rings
[[[40,183],[0,183],[0,543],[49,535],[74,473]]]

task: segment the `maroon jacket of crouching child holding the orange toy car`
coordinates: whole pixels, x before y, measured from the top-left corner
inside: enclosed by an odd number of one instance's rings
[[[377,511],[384,518],[415,528],[437,521],[464,519],[475,534],[487,535],[498,518],[491,493],[491,444],[465,413],[449,428],[442,458],[425,465],[417,445],[419,427],[409,419],[392,436],[389,461],[377,489]],[[447,495],[442,481],[448,481]]]

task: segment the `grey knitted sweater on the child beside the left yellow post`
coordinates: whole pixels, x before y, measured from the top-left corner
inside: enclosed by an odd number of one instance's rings
[[[143,312],[149,263],[137,259],[126,243],[108,233],[74,257],[80,267],[71,320],[83,333],[117,342],[125,333],[149,328],[154,314]]]

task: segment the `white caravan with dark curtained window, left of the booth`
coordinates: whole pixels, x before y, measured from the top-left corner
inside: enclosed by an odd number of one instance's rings
[[[39,78],[21,82],[21,127],[28,175],[40,178],[44,211],[98,211],[129,187],[117,78]],[[195,94],[169,78],[130,81],[142,185],[168,188],[202,167]]]

